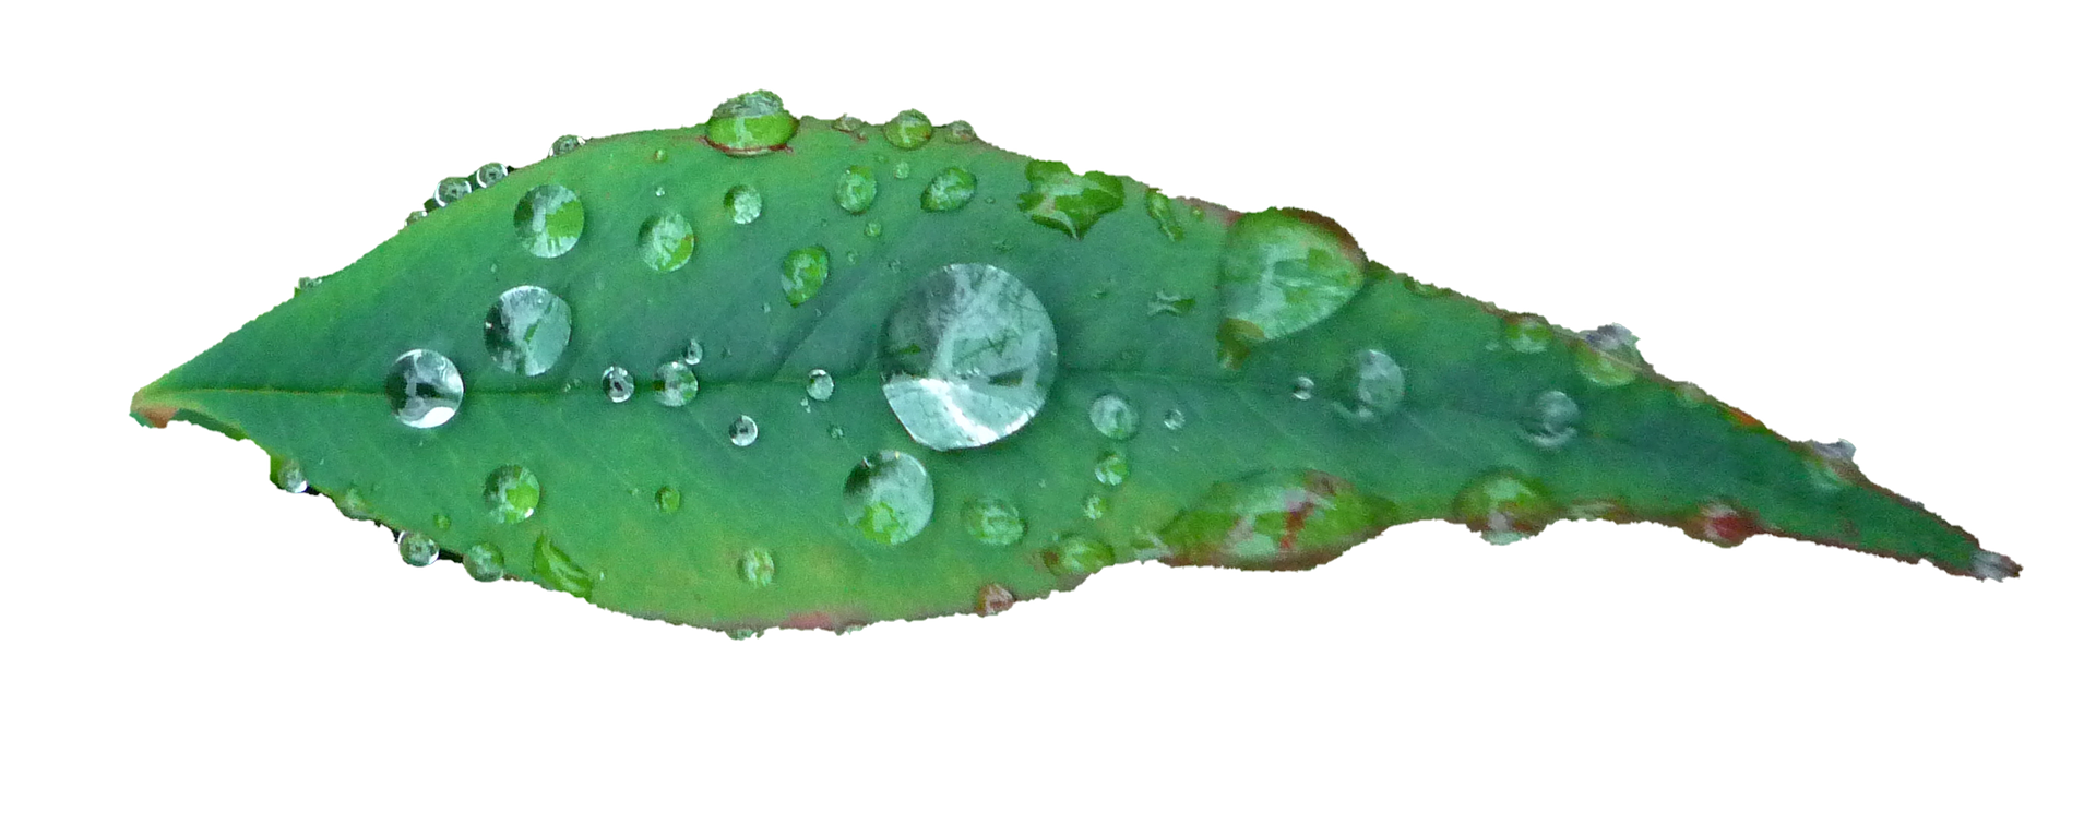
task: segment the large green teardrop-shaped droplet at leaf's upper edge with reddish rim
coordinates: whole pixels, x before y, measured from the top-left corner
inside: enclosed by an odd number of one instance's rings
[[[1367,256],[1337,220],[1300,207],[1239,216],[1222,245],[1222,365],[1323,323],[1362,285]]]

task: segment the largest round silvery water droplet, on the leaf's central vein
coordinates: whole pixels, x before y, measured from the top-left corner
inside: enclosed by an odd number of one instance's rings
[[[897,302],[880,333],[880,392],[910,438],[933,450],[1019,432],[1056,371],[1040,298],[991,264],[947,264]]]

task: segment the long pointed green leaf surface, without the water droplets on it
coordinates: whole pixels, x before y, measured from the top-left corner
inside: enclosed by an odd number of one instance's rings
[[[1232,210],[1178,199],[1165,214],[1182,230],[1174,239],[1149,212],[1090,199],[1105,195],[1098,178],[1119,193],[1142,195],[1144,184],[1088,172],[1069,189],[1071,205],[1054,205],[1058,224],[1044,224],[1025,207],[1025,195],[1040,195],[1029,159],[935,140],[910,151],[912,180],[849,218],[834,201],[836,174],[878,153],[893,159],[878,138],[864,145],[805,124],[792,153],[755,157],[727,157],[700,138],[696,128],[597,136],[518,168],[155,379],[134,411],[300,461],[314,490],[346,499],[354,488],[381,524],[434,536],[446,557],[488,543],[514,576],[570,593],[574,578],[597,578],[576,595],[723,629],[937,616],[970,610],[989,587],[1035,599],[1082,580],[1067,568],[1098,562],[1090,541],[1113,562],[1287,568],[1276,557],[1291,526],[1297,557],[1318,562],[1348,538],[1413,520],[1461,518],[1515,536],[1547,518],[1593,513],[1729,543],[1731,518],[1708,511],[1719,499],[1794,538],[1974,570],[1968,534],[1844,467],[1834,467],[1836,482],[1849,482],[1832,499],[1805,492],[1817,490],[1805,446],[1735,423],[1721,404],[1681,404],[1635,356],[1593,352],[1562,329],[1538,352],[1511,350],[1501,310],[1415,293],[1419,285],[1375,262],[1360,262],[1360,289],[1333,312],[1287,335],[1262,333],[1241,369],[1224,369],[1232,308],[1218,285]],[[656,151],[667,159],[654,161]],[[924,212],[926,178],[952,168],[973,174],[975,199]],[[520,201],[541,184],[572,189],[585,207],[572,249],[553,258],[526,249],[516,230]],[[723,201],[736,184],[763,195],[750,224],[736,224]],[[654,270],[637,245],[660,212],[681,214],[696,233],[690,262],[671,272]],[[1079,216],[1090,218],[1084,228]],[[566,216],[547,220],[549,233],[564,233],[553,226]],[[864,237],[861,220],[880,220],[885,235]],[[830,277],[792,306],[780,266],[799,247],[826,247]],[[874,352],[885,316],[916,281],[975,262],[1008,268],[1042,300],[1061,342],[1058,375],[1044,411],[1014,436],[933,453],[889,411]],[[543,375],[505,371],[484,348],[490,304],[518,285],[547,287],[574,308],[574,342]],[[1153,316],[1157,293],[1193,306]],[[604,367],[648,379],[692,337],[708,348],[692,404],[602,396]],[[465,377],[459,415],[438,427],[390,415],[381,381],[411,348],[446,354]],[[1406,386],[1392,411],[1362,419],[1360,398],[1346,392],[1358,390],[1356,356],[1371,348],[1396,358]],[[1603,386],[1624,367],[1635,379]],[[828,369],[838,386],[803,409],[809,369]],[[1297,377],[1314,381],[1310,400],[1291,396]],[[1553,450],[1524,430],[1543,390],[1570,392],[1580,406],[1578,434]],[[1126,440],[1092,427],[1090,406],[1105,392],[1140,413]],[[1161,423],[1174,409],[1186,415],[1176,432]],[[763,427],[750,446],[727,440],[742,415]],[[903,543],[866,534],[893,532],[895,518],[847,513],[851,474],[880,450],[920,459],[937,488],[929,524]],[[1107,453],[1128,461],[1117,486],[1096,478]],[[541,482],[537,513],[520,522],[493,520],[484,501],[490,474],[507,465]],[[1478,486],[1509,469],[1541,490],[1507,499]],[[675,511],[660,509],[662,488],[681,492]],[[1008,547],[977,541],[962,513],[977,499],[1017,507],[1025,534]],[[453,526],[434,530],[438,515]],[[1243,520],[1256,536],[1232,538],[1237,524],[1220,520]],[[1844,541],[1844,524],[1872,541]],[[541,543],[562,559],[543,559]],[[744,580],[750,549],[773,555],[773,582]]]

